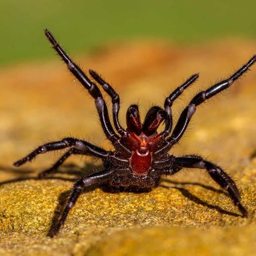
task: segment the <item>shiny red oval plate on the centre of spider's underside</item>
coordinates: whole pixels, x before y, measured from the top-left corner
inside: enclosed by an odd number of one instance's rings
[[[137,175],[145,175],[150,170],[152,163],[152,153],[145,148],[140,148],[132,152],[130,167],[132,172]]]

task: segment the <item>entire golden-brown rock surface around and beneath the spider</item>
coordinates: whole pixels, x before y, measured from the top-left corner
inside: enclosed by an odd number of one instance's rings
[[[138,43],[78,59],[103,74],[119,92],[120,119],[139,100],[152,104],[192,73],[200,79],[174,105],[174,123],[188,100],[233,72],[255,53],[255,42],[221,42],[177,48]],[[228,49],[228,51],[226,51]],[[54,55],[54,53],[53,53]],[[207,174],[185,170],[163,178],[149,193],[86,190],[65,226],[46,237],[78,176],[99,169],[89,157],[66,161],[55,178],[35,179],[61,153],[47,153],[19,169],[11,166],[31,148],[66,136],[110,149],[93,100],[74,86],[65,65],[53,61],[0,70],[1,255],[253,255],[256,250],[256,66],[225,92],[199,107],[184,139],[171,150],[201,154],[237,180],[249,216],[241,218]],[[77,85],[78,83],[75,82]],[[78,88],[77,88],[78,87]],[[110,104],[110,100],[105,97]],[[111,112],[111,111],[110,111]],[[163,128],[163,127],[162,127]]]

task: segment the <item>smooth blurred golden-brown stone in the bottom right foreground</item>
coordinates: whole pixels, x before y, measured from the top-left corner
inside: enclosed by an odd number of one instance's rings
[[[253,226],[209,229],[171,226],[132,228],[103,238],[89,248],[86,255],[254,255],[255,236]],[[84,254],[76,252],[76,255]]]

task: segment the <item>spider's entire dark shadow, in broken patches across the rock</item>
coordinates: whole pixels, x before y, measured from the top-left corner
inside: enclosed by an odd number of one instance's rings
[[[56,180],[72,181],[72,182],[75,183],[75,181],[79,177],[81,177],[81,176],[86,177],[87,175],[89,175],[91,173],[94,173],[94,172],[97,172],[100,169],[100,166],[93,165],[93,164],[85,164],[84,167],[82,167],[82,169],[80,169],[80,167],[78,167],[75,164],[68,164],[68,165],[64,165],[63,167],[64,168],[62,168],[61,171],[57,171],[54,174],[54,176],[49,176],[49,177],[46,177],[44,179],[56,179]],[[5,181],[1,182],[0,185],[15,183],[15,182],[24,181],[24,180],[32,180],[32,179],[38,180],[37,177],[28,176],[28,174],[32,173],[31,170],[24,170],[23,169],[23,170],[17,171],[16,169],[13,169],[13,168],[10,168],[10,167],[1,167],[1,169],[4,170],[4,171],[11,171],[11,172],[14,172],[14,173],[19,174],[19,175],[25,174],[26,176],[5,180]],[[75,176],[75,177],[65,178],[65,177],[62,177],[62,176],[57,176],[56,174],[69,174],[69,175]],[[232,216],[235,216],[235,217],[240,216],[239,214],[223,210],[223,208],[221,208],[220,206],[208,204],[206,201],[201,200],[200,198],[194,196],[187,189],[185,189],[183,187],[179,187],[178,185],[200,186],[200,187],[205,188],[206,190],[210,190],[210,191],[213,191],[215,193],[228,195],[223,190],[214,188],[212,186],[204,185],[204,184],[201,184],[201,183],[177,182],[177,181],[171,181],[171,180],[168,180],[168,179],[161,179],[161,181],[164,181],[165,183],[171,184],[170,186],[160,184],[161,187],[164,187],[164,188],[167,188],[167,189],[174,188],[176,190],[179,190],[183,194],[184,197],[190,199],[194,203],[197,203],[199,205],[203,205],[203,206],[206,206],[208,208],[214,209],[214,210],[216,210],[216,211],[218,211],[222,214],[232,215]],[[145,193],[145,192],[151,191],[149,189],[138,188],[138,187],[134,187],[134,186],[130,186],[130,187],[112,187],[112,186],[106,185],[106,184],[98,184],[98,185],[95,185],[95,186],[84,188],[82,193],[93,191],[96,188],[101,188],[104,192],[107,192],[107,193],[122,193],[122,192]],[[66,206],[66,203],[69,199],[70,192],[71,192],[71,190],[67,190],[67,191],[64,191],[64,192],[60,193],[60,195],[58,197],[58,204],[57,204],[57,206],[55,208],[55,211],[53,213],[53,217],[52,217],[52,221],[51,221],[51,227],[50,227],[50,230],[48,232],[48,235],[53,230],[55,230],[55,227],[58,223],[58,220],[59,220],[60,216],[62,215],[62,212],[63,212],[63,210]]]

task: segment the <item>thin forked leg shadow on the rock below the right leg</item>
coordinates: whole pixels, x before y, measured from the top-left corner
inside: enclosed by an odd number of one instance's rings
[[[203,187],[207,190],[211,190],[213,192],[217,192],[219,194],[225,194],[226,196],[228,196],[228,194],[225,192],[225,191],[222,191],[222,190],[219,190],[217,188],[214,188],[214,187],[211,187],[211,186],[207,186],[207,185],[204,185],[204,184],[200,184],[200,183],[193,183],[193,182],[176,182],[176,181],[171,181],[171,180],[167,180],[167,179],[162,179],[162,181],[166,182],[166,183],[170,183],[174,186],[167,186],[167,185],[163,185],[161,184],[160,186],[161,187],[164,187],[164,188],[174,188],[178,191],[181,192],[181,194],[183,194],[184,197],[190,199],[191,201],[193,201],[194,203],[196,204],[199,204],[199,205],[203,205],[203,206],[206,206],[210,209],[214,209],[216,211],[218,211],[219,213],[221,214],[227,214],[227,215],[231,215],[231,216],[234,216],[234,217],[240,217],[239,214],[237,213],[233,213],[233,212],[229,212],[229,211],[226,211],[224,210],[223,208],[221,208],[220,206],[218,205],[212,205],[212,204],[209,204],[207,203],[206,201],[203,201],[201,200],[200,198],[194,196],[190,191],[188,191],[186,188],[183,188],[183,187],[179,187],[177,185],[195,185],[195,186],[200,186],[200,187]]]

